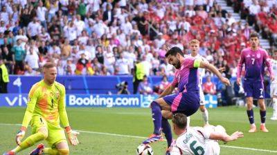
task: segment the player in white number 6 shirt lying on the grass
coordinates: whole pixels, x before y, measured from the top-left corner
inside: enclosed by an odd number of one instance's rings
[[[186,127],[185,114],[177,113],[172,118],[173,131],[178,138],[170,147],[170,155],[218,155],[218,141],[235,141],[243,137],[242,132],[226,134],[224,127],[206,125],[205,127]]]

